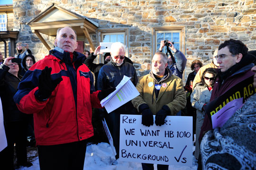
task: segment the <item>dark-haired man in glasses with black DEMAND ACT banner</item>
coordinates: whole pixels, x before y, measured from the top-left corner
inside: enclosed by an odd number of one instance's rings
[[[254,66],[256,57],[248,53],[248,48],[239,40],[230,39],[219,45],[216,56],[218,77],[212,89],[210,103],[201,127],[200,140],[205,132],[212,129],[211,116],[235,98],[243,102],[255,93],[253,88]]]

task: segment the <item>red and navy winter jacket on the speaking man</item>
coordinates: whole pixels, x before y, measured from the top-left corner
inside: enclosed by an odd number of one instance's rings
[[[72,55],[72,54],[71,54]],[[93,135],[91,107],[102,108],[94,91],[92,73],[82,63],[83,55],[56,47],[43,60],[35,63],[24,75],[14,96],[21,112],[34,113],[37,145],[55,145],[87,139]],[[51,67],[53,80],[62,77],[50,98],[40,102],[34,93],[38,89],[38,76]]]

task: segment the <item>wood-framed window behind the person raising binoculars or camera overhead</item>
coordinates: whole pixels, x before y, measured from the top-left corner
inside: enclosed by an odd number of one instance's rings
[[[184,29],[185,29],[185,27],[155,27],[155,28],[153,28],[152,35],[154,37],[152,38],[152,40],[153,40],[152,56],[159,49],[160,43],[162,40],[169,40],[171,42],[174,42],[174,47],[177,50],[180,50],[184,53],[185,52]],[[163,49],[163,53],[166,53],[166,52],[167,52],[167,47],[165,46]],[[168,54],[168,57],[169,57],[169,54]]]

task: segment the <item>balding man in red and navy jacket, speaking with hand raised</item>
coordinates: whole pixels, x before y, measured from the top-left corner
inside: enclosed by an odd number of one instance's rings
[[[93,135],[91,107],[101,108],[108,92],[94,90],[71,27],[57,30],[55,46],[27,71],[14,100],[23,113],[34,113],[40,169],[82,170]]]

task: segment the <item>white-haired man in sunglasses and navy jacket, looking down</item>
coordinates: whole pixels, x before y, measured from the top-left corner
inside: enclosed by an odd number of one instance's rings
[[[131,77],[131,82],[136,86],[138,81],[137,73],[132,64],[124,61],[125,51],[126,47],[122,43],[116,42],[111,45],[111,60],[101,67],[98,76],[98,90],[115,88],[123,79],[124,75]],[[133,107],[131,101],[112,111],[105,117],[116,148],[116,159],[119,158],[120,114],[136,114],[136,109]]]

